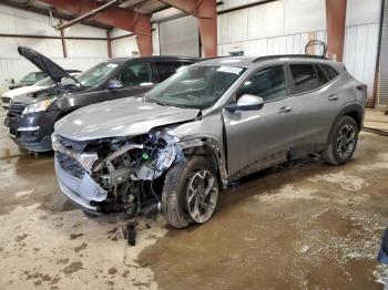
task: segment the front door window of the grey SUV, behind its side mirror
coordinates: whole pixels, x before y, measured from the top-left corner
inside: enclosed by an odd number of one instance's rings
[[[287,96],[286,79],[283,65],[272,66],[258,71],[246,81],[237,93],[237,99],[244,94],[263,97],[265,102]]]

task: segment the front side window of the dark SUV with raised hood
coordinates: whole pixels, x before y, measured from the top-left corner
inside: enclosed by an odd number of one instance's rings
[[[127,65],[120,75],[120,81],[124,86],[152,85],[152,70],[150,63],[139,63]]]

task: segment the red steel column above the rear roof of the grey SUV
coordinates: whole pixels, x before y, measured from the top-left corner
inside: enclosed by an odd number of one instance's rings
[[[347,0],[326,0],[326,27],[329,59],[344,59]]]

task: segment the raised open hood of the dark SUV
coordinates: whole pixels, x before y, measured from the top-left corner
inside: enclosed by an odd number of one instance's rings
[[[19,46],[18,52],[20,55],[24,56],[30,62],[32,62],[42,72],[49,75],[50,79],[57,84],[61,82],[62,77],[72,79],[72,76],[65,70],[63,70],[57,63],[54,63],[53,61],[49,60],[48,58],[34,50],[24,46]]]

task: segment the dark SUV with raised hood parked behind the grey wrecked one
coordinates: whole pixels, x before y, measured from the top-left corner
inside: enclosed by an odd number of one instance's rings
[[[180,68],[198,61],[181,56],[111,59],[75,79],[31,49],[19,48],[19,53],[58,84],[43,94],[16,97],[10,103],[4,125],[21,151],[29,152],[51,151],[54,123],[70,112],[93,103],[142,95]],[[61,83],[62,79],[73,82]]]

